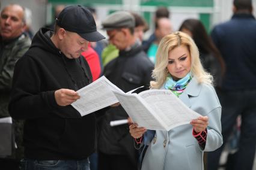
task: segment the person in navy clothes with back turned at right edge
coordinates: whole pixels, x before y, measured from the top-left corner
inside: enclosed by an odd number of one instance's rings
[[[222,82],[222,135],[224,145],[241,115],[239,148],[228,156],[227,169],[252,169],[256,150],[256,20],[251,0],[234,0],[231,20],[215,26],[212,39],[227,69]],[[208,169],[218,169],[224,145],[209,153]]]

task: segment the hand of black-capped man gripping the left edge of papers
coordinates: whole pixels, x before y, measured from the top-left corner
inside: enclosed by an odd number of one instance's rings
[[[70,105],[80,98],[77,92],[70,89],[59,89],[54,93],[56,103],[60,106]]]

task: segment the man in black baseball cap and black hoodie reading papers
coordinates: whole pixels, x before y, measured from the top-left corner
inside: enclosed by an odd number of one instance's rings
[[[72,5],[59,14],[54,32],[37,32],[16,63],[9,111],[25,119],[22,169],[90,169],[96,118],[81,117],[70,104],[79,99],[76,90],[92,81],[81,53],[89,41],[103,38],[90,11]]]

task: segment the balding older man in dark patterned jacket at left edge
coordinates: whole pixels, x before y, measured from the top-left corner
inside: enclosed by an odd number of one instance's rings
[[[8,103],[13,82],[14,65],[31,44],[29,37],[23,34],[25,27],[23,7],[18,4],[10,4],[3,8],[0,17],[0,118],[10,116]],[[24,154],[22,145],[23,122],[13,120],[12,128],[12,153],[7,156],[0,151],[0,169],[19,169],[19,160]],[[2,141],[6,140],[3,137],[4,133],[9,132],[1,130]]]

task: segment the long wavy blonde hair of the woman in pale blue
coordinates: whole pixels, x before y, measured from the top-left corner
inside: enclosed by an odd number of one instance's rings
[[[179,47],[180,45],[186,45],[190,52],[191,76],[197,78],[199,83],[212,84],[213,77],[208,72],[204,71],[204,68],[200,62],[197,45],[195,45],[195,42],[189,37],[189,35],[177,31],[166,35],[160,41],[156,52],[156,65],[152,73],[152,77],[155,81],[150,81],[151,88],[160,89],[160,87],[163,86],[166,81],[166,77],[169,74],[168,71],[166,71],[166,67],[168,66],[169,51]]]

